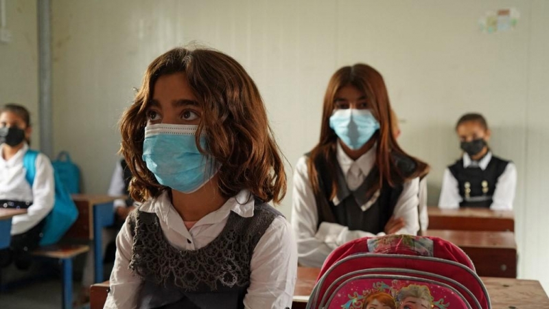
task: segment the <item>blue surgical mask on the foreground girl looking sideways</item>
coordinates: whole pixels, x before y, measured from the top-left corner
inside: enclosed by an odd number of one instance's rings
[[[198,126],[153,124],[145,127],[143,161],[161,185],[183,193],[200,189],[218,172],[212,157],[198,151],[195,134]],[[207,149],[206,137],[200,146]]]

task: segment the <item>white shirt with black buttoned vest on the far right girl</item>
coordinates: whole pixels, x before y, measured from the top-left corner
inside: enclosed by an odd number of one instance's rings
[[[513,209],[517,170],[515,164],[492,155],[474,161],[464,154],[444,172],[439,207]]]

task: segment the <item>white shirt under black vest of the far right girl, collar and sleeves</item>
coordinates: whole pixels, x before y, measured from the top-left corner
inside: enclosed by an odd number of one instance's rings
[[[488,152],[480,161],[473,161],[467,153],[463,154],[463,167],[478,166],[481,170],[486,170],[492,159],[492,152]],[[495,186],[495,191],[492,196],[493,210],[512,210],[513,201],[515,200],[515,187],[517,186],[517,168],[513,162],[509,162],[503,171],[503,174],[498,178],[498,183]],[[439,198],[439,207],[443,209],[459,208],[459,203],[463,198],[459,194],[458,180],[452,175],[449,168],[444,171],[441,197]]]

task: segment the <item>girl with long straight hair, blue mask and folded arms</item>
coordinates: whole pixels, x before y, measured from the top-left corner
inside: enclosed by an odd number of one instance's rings
[[[320,141],[294,171],[300,264],[320,267],[356,238],[417,234],[426,164],[401,150],[392,130],[381,74],[362,64],[338,69],[326,89]]]

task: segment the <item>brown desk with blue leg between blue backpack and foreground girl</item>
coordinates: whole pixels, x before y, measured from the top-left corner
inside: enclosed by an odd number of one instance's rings
[[[93,259],[95,281],[103,282],[102,229],[110,227],[115,222],[113,202],[123,196],[108,196],[99,194],[73,194],[78,208],[78,218],[67,231],[69,238],[80,238],[93,241]]]

